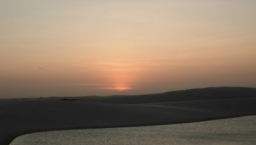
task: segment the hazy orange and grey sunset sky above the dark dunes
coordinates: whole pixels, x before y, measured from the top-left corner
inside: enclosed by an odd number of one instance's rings
[[[256,87],[254,0],[0,0],[0,98]]]

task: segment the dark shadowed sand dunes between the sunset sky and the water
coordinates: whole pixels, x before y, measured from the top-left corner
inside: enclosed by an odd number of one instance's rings
[[[22,134],[129,127],[256,114],[256,88],[220,87],[152,95],[0,99],[0,144]]]

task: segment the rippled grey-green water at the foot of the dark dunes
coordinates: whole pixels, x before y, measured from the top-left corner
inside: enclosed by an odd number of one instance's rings
[[[34,144],[256,144],[256,116],[224,120],[40,132],[17,137],[12,145]]]

